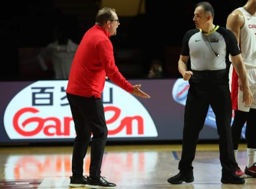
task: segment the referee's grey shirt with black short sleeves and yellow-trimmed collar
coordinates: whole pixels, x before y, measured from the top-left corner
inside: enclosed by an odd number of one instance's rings
[[[236,56],[240,53],[232,31],[216,26],[209,33],[203,33],[201,29],[187,31],[180,54],[190,56],[192,70],[206,71],[226,69],[230,65],[229,54]]]

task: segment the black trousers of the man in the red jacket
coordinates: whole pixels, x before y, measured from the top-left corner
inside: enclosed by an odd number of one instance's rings
[[[72,156],[73,177],[83,176],[83,161],[92,134],[90,177],[98,179],[100,178],[100,168],[107,141],[107,125],[102,99],[68,93],[67,98],[76,130]]]

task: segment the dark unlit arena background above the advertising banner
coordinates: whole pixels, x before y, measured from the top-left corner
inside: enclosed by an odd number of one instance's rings
[[[141,6],[145,6],[145,12],[119,16],[121,25],[118,33],[111,37],[116,64],[126,78],[146,78],[150,62],[159,59],[164,68],[164,78],[177,78],[180,76],[177,63],[182,38],[187,30],[194,28],[194,6],[201,1],[144,1]],[[120,6],[120,1],[116,2]],[[247,0],[209,2],[215,10],[214,24],[225,27],[228,14],[243,6]],[[53,42],[53,31],[57,25],[65,26],[69,38],[79,44],[84,33],[95,24],[95,15],[101,3],[102,0],[1,2],[0,79],[52,79],[49,73],[40,71],[38,65],[30,66],[24,72],[21,59],[32,57],[40,48]]]

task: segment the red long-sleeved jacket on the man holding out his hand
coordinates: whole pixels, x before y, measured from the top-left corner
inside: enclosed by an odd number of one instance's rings
[[[105,76],[127,92],[131,85],[119,72],[114,61],[114,52],[109,33],[95,25],[81,40],[71,66],[66,92],[82,97],[101,98]]]

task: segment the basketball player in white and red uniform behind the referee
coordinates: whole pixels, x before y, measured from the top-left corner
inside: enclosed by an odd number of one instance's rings
[[[246,106],[242,102],[242,83],[234,68],[230,66],[231,98],[235,118],[232,124],[232,140],[235,158],[242,127],[247,121],[245,136],[247,139],[247,166],[245,174],[256,177],[256,0],[248,0],[243,7],[235,9],[227,19],[227,28],[236,36],[239,43],[254,102]],[[240,85],[240,86],[239,86]],[[244,177],[244,172],[237,167],[236,175]]]

